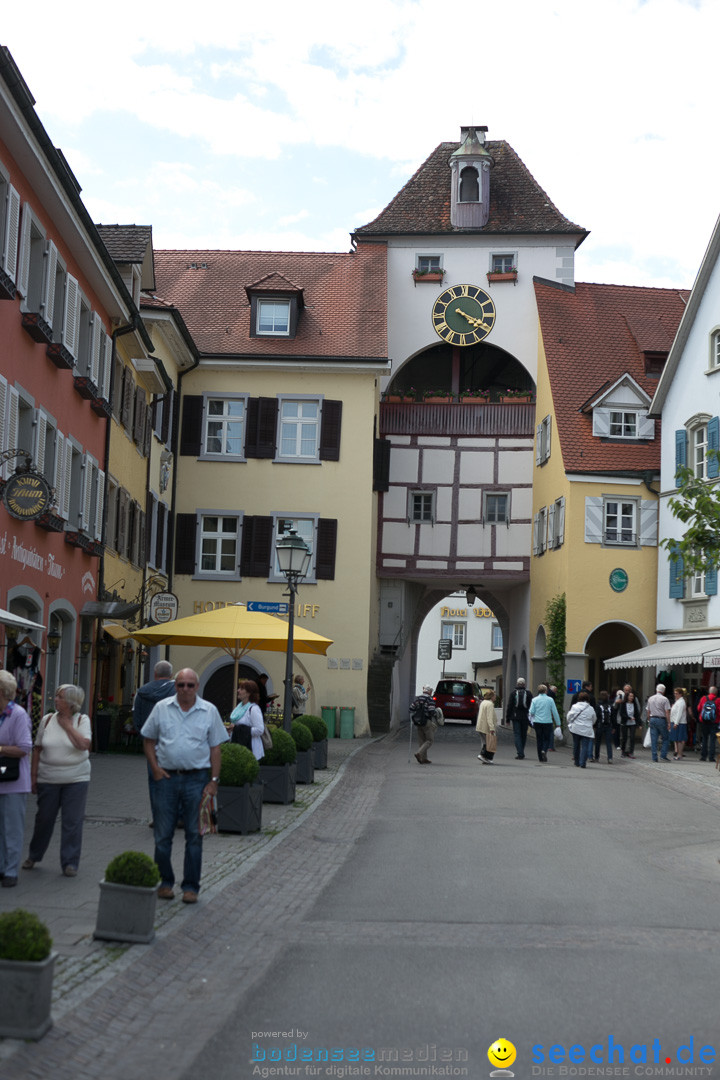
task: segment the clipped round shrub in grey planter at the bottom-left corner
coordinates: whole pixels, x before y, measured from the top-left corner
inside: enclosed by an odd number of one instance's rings
[[[52,948],[37,915],[22,907],[0,915],[0,1038],[42,1039],[53,1026]]]

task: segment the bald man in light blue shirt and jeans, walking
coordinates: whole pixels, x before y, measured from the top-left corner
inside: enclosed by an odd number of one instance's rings
[[[173,836],[178,818],[185,823],[182,901],[194,904],[200,892],[203,838],[200,804],[216,795],[220,779],[220,744],[229,735],[215,705],[198,696],[200,679],[189,667],[175,676],[175,696],[159,701],[140,732],[154,781],[155,862],[162,878],[158,896],[173,900]]]

